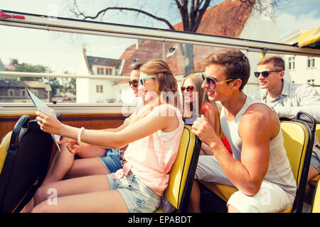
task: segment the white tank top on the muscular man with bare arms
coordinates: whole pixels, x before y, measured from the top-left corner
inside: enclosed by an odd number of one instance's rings
[[[220,114],[220,121],[223,133],[225,133],[225,136],[228,138],[228,141],[231,145],[231,148],[233,150],[233,157],[238,161],[241,160],[242,150],[242,141],[238,133],[240,119],[242,117],[242,114],[244,114],[247,110],[247,108],[252,104],[256,103],[263,104],[262,102],[252,99],[252,97],[250,96],[247,96],[247,99],[245,100],[245,104],[242,106],[242,109],[239,111],[237,116],[235,116],[235,119],[231,122],[228,121],[227,118],[225,118],[224,107]],[[278,135],[272,140],[270,140],[269,143],[270,158],[267,174],[265,175],[265,180],[273,182],[274,184],[277,184],[279,185],[279,187],[284,189],[285,192],[295,195],[297,190],[297,184],[294,180],[294,176],[292,174],[290,163],[287,157],[286,150],[284,150],[283,143],[284,142],[282,137],[282,131],[281,129],[279,129]]]

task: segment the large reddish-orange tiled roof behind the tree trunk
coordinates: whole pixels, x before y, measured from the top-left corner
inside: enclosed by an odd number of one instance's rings
[[[208,35],[220,35],[233,38],[239,38],[247,18],[250,16],[252,5],[241,3],[240,1],[226,0],[222,3],[213,6],[203,14],[201,25],[197,33]],[[182,22],[174,26],[177,31],[182,31]],[[131,45],[122,54],[121,60],[125,59],[122,76],[129,76],[132,67],[132,61],[137,60],[137,64],[143,64],[148,60],[163,57],[163,43],[153,40],[144,40],[136,50],[134,45]],[[169,48],[178,47],[176,52],[170,57],[165,57],[174,75],[183,74],[183,55],[178,44],[164,43],[164,56],[169,52]],[[193,46],[193,61],[194,72],[202,72],[204,66],[202,62],[206,57],[220,48],[208,46]]]

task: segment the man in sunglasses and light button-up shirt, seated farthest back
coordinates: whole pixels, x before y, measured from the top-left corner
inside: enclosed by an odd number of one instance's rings
[[[312,116],[316,123],[320,123],[319,93],[308,84],[291,84],[284,80],[284,60],[282,57],[263,57],[257,63],[255,77],[260,84],[260,90],[255,94],[255,99],[270,106],[279,118],[294,118],[299,111],[302,111]],[[319,138],[315,138],[308,182],[320,173],[319,158]],[[306,184],[306,194],[308,191],[309,184]]]

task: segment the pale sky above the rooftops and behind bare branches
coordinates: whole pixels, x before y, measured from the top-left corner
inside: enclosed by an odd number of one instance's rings
[[[78,0],[80,9],[90,15],[105,6],[127,6],[146,9],[156,16],[170,18],[172,24],[181,22],[176,7],[170,0]],[[221,0],[214,1],[219,4]],[[73,0],[1,0],[0,9],[75,18],[68,6]],[[213,4],[213,5],[214,5]],[[274,7],[280,38],[301,28],[320,26],[319,0],[282,0]],[[106,13],[103,21],[123,23],[134,26],[167,28],[166,24],[154,21],[146,16],[137,17],[136,13]],[[106,38],[103,36],[78,35],[36,31],[28,28],[0,26],[0,59],[8,65],[11,58],[19,63],[46,65],[55,73],[64,71],[77,73],[82,43],[87,45],[88,55],[119,58],[125,48],[136,40],[124,38]],[[23,34],[23,35],[19,35]]]

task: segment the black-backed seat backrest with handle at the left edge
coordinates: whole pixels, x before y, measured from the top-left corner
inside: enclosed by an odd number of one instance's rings
[[[1,213],[20,211],[46,177],[53,138],[29,120],[29,116],[22,116],[1,141]]]

